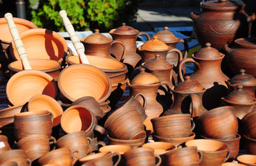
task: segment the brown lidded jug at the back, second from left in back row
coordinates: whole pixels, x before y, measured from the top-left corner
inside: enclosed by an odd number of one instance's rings
[[[125,44],[127,53],[123,63],[131,66],[133,70],[138,66],[138,62],[140,62],[141,59],[140,55],[137,53],[138,48],[136,46],[136,39],[140,35],[145,35],[149,40],[149,35],[147,33],[139,32],[131,26],[127,26],[125,23],[123,23],[119,28],[110,30],[109,34],[114,40],[121,41]],[[120,59],[119,57],[122,55],[122,46],[120,46],[120,44],[113,44],[111,46],[110,53],[112,53],[116,59]]]

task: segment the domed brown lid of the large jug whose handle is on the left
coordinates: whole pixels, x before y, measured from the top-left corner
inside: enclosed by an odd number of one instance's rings
[[[201,48],[197,53],[194,54],[194,57],[205,58],[205,59],[215,59],[221,56],[222,54],[219,53],[219,50],[211,47],[210,43],[206,43],[205,47]]]

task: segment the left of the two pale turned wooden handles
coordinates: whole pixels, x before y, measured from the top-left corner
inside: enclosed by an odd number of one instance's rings
[[[31,70],[32,68],[28,62],[26,50],[24,48],[21,38],[19,37],[19,31],[15,26],[15,22],[12,20],[12,14],[10,12],[7,12],[6,15],[4,15],[4,18],[6,18],[6,21],[8,22],[10,34],[12,35],[13,41],[15,42],[15,47],[25,70]]]

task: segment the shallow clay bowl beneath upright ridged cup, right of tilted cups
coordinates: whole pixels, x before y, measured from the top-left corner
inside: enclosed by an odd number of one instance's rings
[[[195,136],[196,134],[193,132],[190,133],[190,136],[183,137],[183,138],[165,138],[165,137],[154,135],[154,140],[158,140],[161,142],[170,142],[174,146],[178,147],[179,145],[183,144],[184,142],[187,142],[188,140],[194,140]]]

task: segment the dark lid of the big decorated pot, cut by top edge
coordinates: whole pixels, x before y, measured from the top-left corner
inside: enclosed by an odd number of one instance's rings
[[[240,1],[228,1],[228,0],[218,0],[218,1],[205,1],[201,7],[206,10],[237,10],[243,6]]]

